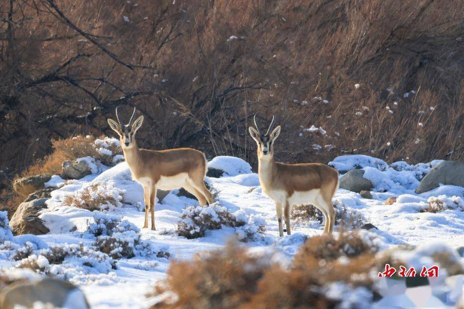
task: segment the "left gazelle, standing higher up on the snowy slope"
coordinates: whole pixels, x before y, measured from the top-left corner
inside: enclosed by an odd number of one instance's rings
[[[132,178],[143,186],[145,201],[145,222],[143,227],[148,227],[148,212],[151,212],[151,229],[155,230],[155,202],[156,190],[173,190],[184,187],[195,195],[200,205],[213,203],[213,195],[206,188],[204,178],[207,172],[205,154],[191,148],[179,148],[170,150],[146,150],[137,147],[135,133],[140,129],[143,116],[132,123],[121,125],[116,108],[116,123],[108,119],[110,128],[113,129],[121,141],[124,158],[129,165]]]

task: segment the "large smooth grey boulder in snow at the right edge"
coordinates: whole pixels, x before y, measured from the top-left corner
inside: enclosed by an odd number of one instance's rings
[[[442,184],[464,187],[464,164],[461,161],[443,161],[432,168],[417,187],[416,193],[424,193]]]

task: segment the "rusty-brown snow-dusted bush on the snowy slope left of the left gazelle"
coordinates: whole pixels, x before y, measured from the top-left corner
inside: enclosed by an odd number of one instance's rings
[[[83,208],[90,211],[101,210],[105,207],[118,205],[120,202],[114,198],[113,194],[104,189],[98,183],[86,187],[78,194],[67,195],[63,205]]]

